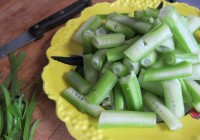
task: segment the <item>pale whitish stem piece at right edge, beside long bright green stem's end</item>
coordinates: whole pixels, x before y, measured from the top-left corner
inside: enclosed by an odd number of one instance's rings
[[[200,80],[200,63],[192,65],[192,75],[183,78],[184,80]]]

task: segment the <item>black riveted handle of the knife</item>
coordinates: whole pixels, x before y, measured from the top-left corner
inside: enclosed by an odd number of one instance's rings
[[[38,22],[37,24],[31,26],[29,28],[29,33],[31,33],[36,39],[39,39],[43,36],[43,34],[66,22],[67,20],[73,18],[78,13],[80,13],[83,9],[91,5],[91,0],[78,0],[68,7],[56,12],[55,14],[49,16],[48,18]]]

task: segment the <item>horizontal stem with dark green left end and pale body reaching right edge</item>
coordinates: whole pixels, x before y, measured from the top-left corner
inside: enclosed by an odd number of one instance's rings
[[[194,53],[170,52],[164,55],[163,60],[166,64],[169,65],[174,65],[185,61],[196,64],[200,62],[200,57]]]

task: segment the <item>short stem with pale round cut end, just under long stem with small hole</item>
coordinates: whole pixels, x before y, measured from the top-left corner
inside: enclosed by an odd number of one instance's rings
[[[140,65],[145,68],[150,67],[156,62],[156,59],[157,53],[152,51],[140,61]]]

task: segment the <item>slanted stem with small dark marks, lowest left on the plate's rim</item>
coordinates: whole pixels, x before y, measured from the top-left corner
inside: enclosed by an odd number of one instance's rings
[[[62,96],[81,112],[88,113],[93,117],[98,117],[102,111],[102,108],[99,105],[88,103],[86,98],[72,87],[67,88],[62,93]]]

